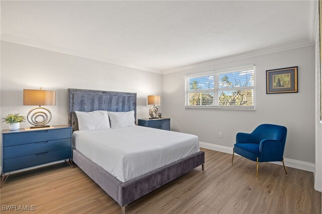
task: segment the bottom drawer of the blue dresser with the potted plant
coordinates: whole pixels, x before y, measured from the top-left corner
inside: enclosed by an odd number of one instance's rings
[[[4,160],[4,172],[71,158],[71,148]]]

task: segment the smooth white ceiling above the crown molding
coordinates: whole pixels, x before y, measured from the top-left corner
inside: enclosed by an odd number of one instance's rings
[[[1,31],[164,71],[310,41],[312,12],[308,1],[1,1]]]

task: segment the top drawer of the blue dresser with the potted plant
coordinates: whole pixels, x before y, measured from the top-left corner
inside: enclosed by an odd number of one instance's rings
[[[70,135],[70,128],[11,133],[4,135],[4,146],[15,146],[20,144],[64,139],[70,138]]]

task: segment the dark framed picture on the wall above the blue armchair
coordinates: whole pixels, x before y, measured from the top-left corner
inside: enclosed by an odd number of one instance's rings
[[[266,70],[266,93],[297,93],[298,66]]]

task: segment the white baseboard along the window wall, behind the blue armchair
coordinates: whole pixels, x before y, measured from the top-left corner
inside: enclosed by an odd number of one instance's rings
[[[232,148],[228,147],[228,146],[221,146],[221,145],[212,144],[212,143],[205,143],[205,142],[201,142],[201,141],[199,142],[199,145],[201,148],[232,154]],[[237,154],[235,154],[235,155],[237,155]],[[283,165],[281,162],[271,162],[271,163]],[[287,167],[302,169],[302,170],[309,171],[309,172],[314,172],[314,169],[315,169],[314,163],[294,160],[294,159],[290,159],[290,158],[284,158],[284,163]]]

